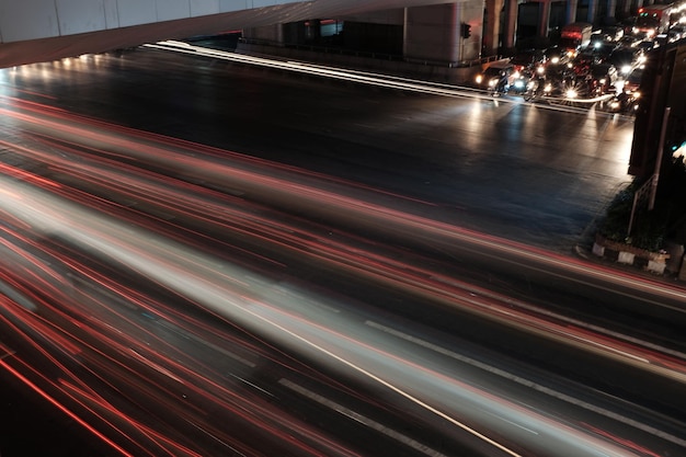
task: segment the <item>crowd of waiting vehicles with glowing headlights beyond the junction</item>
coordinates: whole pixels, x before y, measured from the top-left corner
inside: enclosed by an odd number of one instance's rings
[[[686,4],[686,0],[684,0]],[[681,7],[642,9],[648,14],[668,11],[672,21],[681,18]],[[643,19],[642,19],[643,18]],[[638,27],[648,16],[638,16],[631,27],[607,26],[593,30],[573,23],[562,31],[559,44],[547,49],[526,49],[510,59],[485,68],[476,87],[493,96],[521,95],[526,101],[596,105],[610,112],[631,114],[640,100],[640,82],[645,54],[661,44],[686,38],[686,26],[671,23],[666,28],[647,32]],[[666,33],[665,33],[666,32]]]

